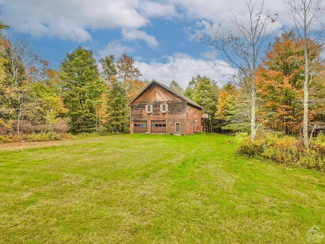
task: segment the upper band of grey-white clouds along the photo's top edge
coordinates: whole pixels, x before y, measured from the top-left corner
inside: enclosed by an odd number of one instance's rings
[[[256,3],[258,11],[262,1]],[[158,45],[155,37],[138,29],[150,24],[151,19],[173,21],[179,18],[226,26],[231,10],[240,18],[247,15],[243,0],[0,0],[0,4],[2,21],[20,33],[85,42],[92,39],[89,29],[122,28],[124,38],[144,40],[150,47]],[[282,0],[265,1],[264,5],[270,14],[278,13],[287,28],[294,27]],[[201,26],[192,33],[197,35],[196,32],[206,31],[207,27],[204,24],[204,28]],[[126,29],[133,31],[126,34]]]

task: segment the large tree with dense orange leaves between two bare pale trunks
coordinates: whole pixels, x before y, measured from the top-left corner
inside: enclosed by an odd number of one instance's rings
[[[315,50],[310,64],[316,71],[321,64],[319,54],[322,46],[312,42],[310,45]],[[269,46],[263,66],[258,67],[256,72],[258,92],[264,100],[263,108],[265,113],[272,114],[266,124],[269,128],[284,131],[287,135],[301,132],[304,69],[303,42],[292,31],[276,37]]]

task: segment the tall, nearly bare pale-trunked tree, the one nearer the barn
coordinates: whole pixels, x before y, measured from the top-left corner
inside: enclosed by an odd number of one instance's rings
[[[259,3],[261,7],[256,11]],[[248,19],[241,19],[234,12],[231,17],[231,23],[236,27],[238,34],[227,33],[220,24],[217,29],[211,26],[211,33],[207,33],[200,39],[204,44],[221,51],[231,63],[230,66],[238,69],[239,74],[234,77],[237,78],[237,84],[243,86],[249,95],[250,113],[247,115],[251,124],[251,140],[255,140],[256,131],[263,123],[256,125],[255,71],[266,40],[276,30],[277,17],[272,18],[268,11],[264,12],[264,1],[246,0],[244,4]],[[224,63],[215,64],[215,66],[220,65]]]

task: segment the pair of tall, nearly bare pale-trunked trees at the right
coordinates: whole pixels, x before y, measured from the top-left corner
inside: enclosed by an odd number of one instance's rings
[[[317,69],[316,66],[323,63],[318,62],[318,57],[319,51],[322,51],[325,28],[322,21],[325,14],[325,2],[323,0],[283,0],[283,4],[294,23],[293,31],[297,35],[300,51],[303,52],[300,59],[295,58],[291,62],[303,68],[303,74],[300,73],[300,75],[304,79],[299,84],[302,87],[302,97],[300,97],[303,104],[302,134],[304,146],[308,149],[310,121],[313,120],[312,114],[309,113],[310,96],[323,73],[323,67],[320,66],[320,69]],[[259,67],[267,66],[266,63],[261,64],[264,46],[266,41],[278,31],[280,22],[277,14],[271,15],[268,10],[264,9],[264,1],[245,0],[244,5],[248,18],[242,19],[231,10],[230,23],[235,27],[235,31],[229,30],[220,23],[216,27],[211,25],[210,32],[199,39],[202,43],[221,52],[225,60],[229,62],[228,66],[237,69],[238,72],[233,74],[233,79],[248,95],[249,111],[245,114],[250,119],[251,141],[254,141],[257,129],[270,121],[270,118],[261,120],[263,116],[259,114],[261,108],[258,103],[262,97],[257,86],[257,72]],[[222,66],[224,63],[214,65]],[[278,67],[269,68],[272,70]],[[314,79],[315,76],[316,79]],[[290,101],[287,102],[290,103]],[[288,119],[291,121],[292,118]],[[314,123],[313,128],[317,128],[317,125],[319,123]]]

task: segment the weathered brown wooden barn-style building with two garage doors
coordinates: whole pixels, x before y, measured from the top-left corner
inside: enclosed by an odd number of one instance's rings
[[[156,80],[128,106],[131,107],[131,133],[189,135],[202,131],[203,107]]]

